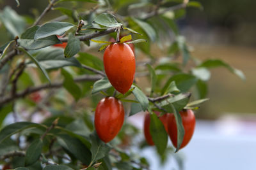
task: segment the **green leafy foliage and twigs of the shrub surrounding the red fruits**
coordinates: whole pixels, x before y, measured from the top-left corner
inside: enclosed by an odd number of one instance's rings
[[[102,96],[112,96],[114,89],[104,76],[102,60],[88,52],[95,51],[92,38],[116,36],[119,29],[121,34],[132,34],[134,41],[130,43],[138,43],[136,59],[146,56],[150,60],[150,64],[138,64],[135,80],[138,81],[140,73],[146,73],[150,87],[141,90],[135,82],[126,94],[115,97],[129,108],[127,116],[146,110],[175,113],[178,146],[184,136],[179,111],[197,109],[198,104],[207,100],[209,69],[226,67],[244,78],[241,71],[222,60],[200,61],[191,56],[175,20],[184,17],[186,7],[202,8],[195,1],[83,0],[84,4],[95,3],[93,9],[85,11],[79,9],[83,3],[70,1],[51,1],[50,8],[63,13],[65,22],[34,24],[27,29],[28,23],[10,7],[0,13],[10,39],[19,36],[0,47],[0,76],[4,80],[0,122],[2,125],[5,117],[17,117],[17,113],[21,120],[26,120],[7,125],[0,132],[1,162],[8,162],[13,169],[148,169],[147,160],[129,150],[138,129],[125,124],[118,137],[108,144],[93,131],[92,110]],[[65,7],[70,5],[76,6],[76,10]],[[83,20],[83,24],[77,25],[78,20]],[[104,36],[107,40],[100,37],[93,41],[108,45],[109,35]],[[121,41],[130,39],[128,36]],[[66,41],[65,49],[52,46]],[[168,57],[156,57],[150,50],[154,44],[168,49],[163,54]],[[8,57],[10,61],[4,62]],[[182,57],[182,62],[177,57]],[[56,89],[60,87],[63,88]],[[29,97],[35,92],[42,96],[39,102]],[[191,92],[194,101],[189,103]],[[33,117],[42,114],[47,115],[44,121],[32,123]],[[164,159],[168,153],[167,134],[156,115],[151,119],[154,124],[150,132],[157,153]]]

